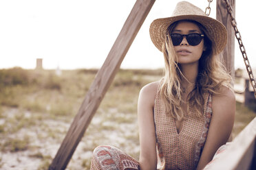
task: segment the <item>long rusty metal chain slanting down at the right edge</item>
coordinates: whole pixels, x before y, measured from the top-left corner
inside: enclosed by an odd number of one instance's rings
[[[239,44],[240,51],[244,58],[244,64],[246,65],[246,70],[249,75],[250,84],[253,86],[254,97],[256,99],[256,83],[255,83],[255,79],[253,77],[253,69],[250,67],[250,63],[247,58],[247,54],[246,54],[246,51],[245,51],[245,48],[244,48],[244,45],[242,42],[241,34],[239,33],[239,31],[237,29],[237,21],[235,21],[235,17],[233,16],[233,9],[232,9],[230,3],[228,2],[228,0],[225,0],[225,2],[226,2],[226,10],[228,11],[228,14],[231,16],[231,25],[233,26],[233,28],[235,30],[235,38],[237,38],[237,42]]]

